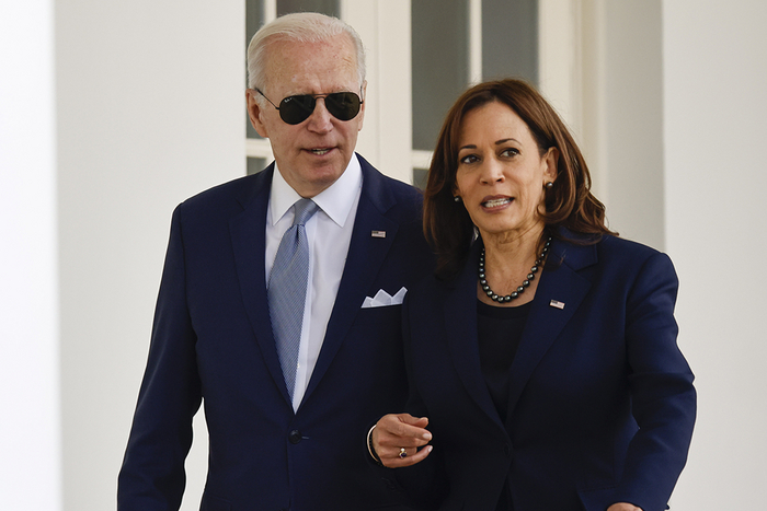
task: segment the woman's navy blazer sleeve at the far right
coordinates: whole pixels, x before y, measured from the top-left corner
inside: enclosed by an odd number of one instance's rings
[[[639,431],[629,444],[617,501],[644,511],[666,509],[695,423],[694,376],[676,342],[677,288],[671,259],[656,253],[643,265],[627,302],[629,385]]]

